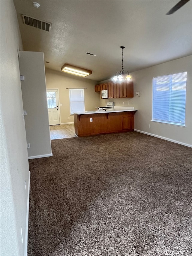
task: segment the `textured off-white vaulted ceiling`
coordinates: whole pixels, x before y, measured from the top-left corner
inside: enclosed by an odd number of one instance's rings
[[[14,1],[25,51],[44,52],[46,68],[64,63],[91,69],[102,81],[121,67],[133,72],[192,54],[192,1],[165,15],[178,1]],[[25,25],[22,15],[52,23],[46,32]],[[86,52],[97,56],[90,56]]]

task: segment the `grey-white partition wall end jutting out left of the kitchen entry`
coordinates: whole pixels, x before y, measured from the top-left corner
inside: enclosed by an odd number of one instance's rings
[[[51,140],[46,98],[44,53],[19,52],[23,109],[29,158],[51,156]]]

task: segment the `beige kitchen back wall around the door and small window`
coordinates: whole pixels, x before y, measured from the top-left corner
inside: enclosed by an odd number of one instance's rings
[[[73,115],[70,115],[69,90],[65,88],[87,87],[87,89],[84,89],[85,111],[95,110],[95,107],[99,106],[100,96],[95,92],[95,84],[98,82],[48,68],[45,69],[45,76],[47,89],[59,89],[59,101],[62,104],[60,106],[60,124],[74,122]]]

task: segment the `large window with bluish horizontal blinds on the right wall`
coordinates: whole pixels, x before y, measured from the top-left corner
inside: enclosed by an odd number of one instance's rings
[[[187,72],[153,78],[152,121],[185,125]]]

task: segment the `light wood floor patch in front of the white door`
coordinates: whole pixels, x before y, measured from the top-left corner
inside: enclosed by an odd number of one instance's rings
[[[51,140],[76,137],[74,124],[49,125],[49,127]]]

